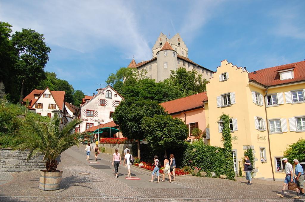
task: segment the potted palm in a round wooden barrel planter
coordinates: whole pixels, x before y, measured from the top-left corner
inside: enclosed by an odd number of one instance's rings
[[[80,119],[73,119],[65,126],[61,126],[61,117],[54,114],[47,124],[35,122],[34,120],[26,121],[32,130],[22,132],[18,135],[20,144],[14,149],[29,149],[27,160],[32,156],[42,153],[45,163],[45,170],[40,171],[39,189],[41,190],[58,190],[63,175],[63,171],[56,170],[56,158],[66,149],[77,145],[80,142],[79,132],[75,132],[77,125],[81,123]]]

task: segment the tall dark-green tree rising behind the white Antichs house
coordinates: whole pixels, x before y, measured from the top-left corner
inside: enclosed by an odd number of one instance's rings
[[[46,46],[44,39],[43,34],[32,29],[16,31],[12,36],[13,46],[19,53],[15,68],[21,85],[20,104],[24,90],[32,88],[45,78],[44,67],[49,60],[48,53],[51,52],[51,49]]]

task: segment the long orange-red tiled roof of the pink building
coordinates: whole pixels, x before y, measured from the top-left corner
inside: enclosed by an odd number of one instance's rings
[[[169,114],[173,114],[202,107],[203,101],[207,100],[208,97],[206,96],[206,92],[202,92],[195,95],[190,95],[185,98],[179,98],[176,100],[163,102],[161,103],[161,105],[165,108],[165,111],[167,111]]]

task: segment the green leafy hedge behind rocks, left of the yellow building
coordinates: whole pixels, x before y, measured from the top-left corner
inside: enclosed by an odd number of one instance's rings
[[[188,145],[184,151],[184,159],[182,164],[192,168],[200,168],[200,171],[205,171],[207,177],[210,177],[210,172],[214,172],[216,177],[220,175],[228,176],[228,165],[225,163],[224,149],[205,145],[202,139]]]

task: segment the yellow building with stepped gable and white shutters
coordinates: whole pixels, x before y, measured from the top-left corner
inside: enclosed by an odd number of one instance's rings
[[[228,114],[236,172],[252,148],[254,176],[283,179],[283,151],[305,138],[305,61],[249,73],[224,60],[206,88],[210,145],[223,146],[218,117]]]

